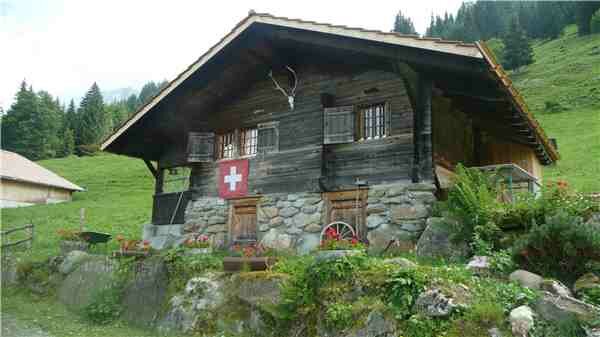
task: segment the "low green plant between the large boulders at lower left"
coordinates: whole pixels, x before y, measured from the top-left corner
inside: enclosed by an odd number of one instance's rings
[[[110,287],[95,294],[92,302],[83,309],[83,316],[95,324],[108,324],[119,318],[122,288]]]

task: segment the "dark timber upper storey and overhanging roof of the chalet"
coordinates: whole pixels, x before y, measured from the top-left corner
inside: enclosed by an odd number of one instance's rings
[[[556,151],[490,67],[478,45],[251,14],[102,148],[147,162],[154,223],[175,221],[162,200],[218,196],[219,158],[247,130],[256,154],[234,158],[249,160],[248,197],[433,182],[437,163],[515,162],[540,177]],[[273,80],[297,80],[293,101]],[[163,193],[165,171],[182,166],[185,196]]]

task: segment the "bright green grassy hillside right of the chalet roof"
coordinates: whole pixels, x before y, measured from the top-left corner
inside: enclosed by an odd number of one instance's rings
[[[558,141],[561,160],[544,177],[600,192],[600,34],[578,37],[570,26],[559,39],[536,42],[533,50],[535,63],[511,77],[548,136]]]

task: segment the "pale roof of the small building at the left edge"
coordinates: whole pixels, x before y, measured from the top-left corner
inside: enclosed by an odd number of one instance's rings
[[[10,151],[0,151],[0,179],[23,181],[70,191],[84,191],[58,174]]]

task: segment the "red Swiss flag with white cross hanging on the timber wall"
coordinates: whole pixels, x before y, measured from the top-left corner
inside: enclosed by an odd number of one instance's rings
[[[223,199],[243,197],[248,193],[248,160],[219,163],[219,196]]]

